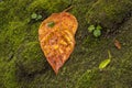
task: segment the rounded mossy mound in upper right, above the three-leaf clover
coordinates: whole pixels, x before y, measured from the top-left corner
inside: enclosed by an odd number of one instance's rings
[[[106,29],[114,30],[131,16],[131,0],[98,0],[87,12],[90,24],[100,24]]]

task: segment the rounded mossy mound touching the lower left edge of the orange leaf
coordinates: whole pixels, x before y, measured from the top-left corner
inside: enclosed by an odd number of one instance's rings
[[[15,54],[15,65],[19,74],[34,75],[47,67],[40,44],[30,42],[22,44]],[[21,73],[20,73],[21,72]]]

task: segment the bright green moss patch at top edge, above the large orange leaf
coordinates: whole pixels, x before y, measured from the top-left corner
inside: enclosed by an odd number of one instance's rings
[[[46,13],[51,14],[53,12],[61,12],[70,4],[70,0],[35,0],[33,1],[28,10],[29,11],[38,11],[44,10]]]

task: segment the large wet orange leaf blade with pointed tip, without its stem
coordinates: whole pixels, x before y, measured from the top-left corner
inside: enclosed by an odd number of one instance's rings
[[[53,13],[38,29],[38,40],[44,55],[57,74],[75,47],[78,22],[68,12]]]

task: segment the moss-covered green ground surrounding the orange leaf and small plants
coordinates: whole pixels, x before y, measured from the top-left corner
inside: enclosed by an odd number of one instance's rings
[[[56,76],[41,51],[37,31],[44,19],[70,6],[79,22],[76,47]],[[43,18],[33,20],[32,13]],[[88,32],[90,24],[103,28],[100,37]],[[99,70],[108,51],[111,62]],[[131,87],[132,0],[0,0],[0,88]]]

